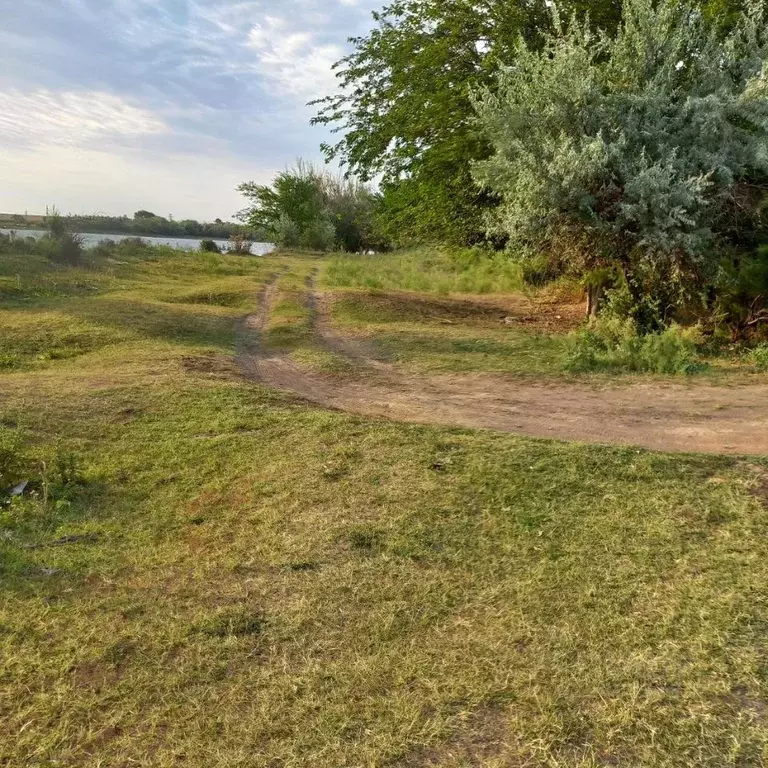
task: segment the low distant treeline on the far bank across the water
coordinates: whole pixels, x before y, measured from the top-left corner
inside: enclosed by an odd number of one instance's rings
[[[128,216],[62,216],[68,232],[92,232],[105,235],[136,235],[137,237],[191,237],[228,240],[241,235],[247,240],[264,242],[266,235],[253,227],[216,219],[199,222],[194,219],[175,221],[157,216],[151,211],[137,211]],[[0,217],[0,226],[16,229],[36,229],[46,226],[46,217],[20,214]]]

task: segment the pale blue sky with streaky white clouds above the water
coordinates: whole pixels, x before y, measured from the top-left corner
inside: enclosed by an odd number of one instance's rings
[[[383,0],[0,0],[0,212],[231,219]]]

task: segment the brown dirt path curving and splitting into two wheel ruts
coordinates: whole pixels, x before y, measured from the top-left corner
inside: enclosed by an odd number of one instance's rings
[[[318,339],[355,368],[322,375],[263,349],[274,276],[259,310],[242,324],[238,362],[246,375],[306,400],[398,421],[485,428],[534,437],[636,445],[663,451],[768,454],[768,385],[714,387],[656,382],[623,387],[532,382],[511,376],[413,376],[372,358],[331,330],[325,297],[308,281]]]

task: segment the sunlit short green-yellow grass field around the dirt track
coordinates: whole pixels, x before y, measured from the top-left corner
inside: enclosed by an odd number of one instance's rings
[[[0,765],[764,765],[768,463],[244,380],[272,275],[266,344],[313,354],[318,268],[0,257],[0,462],[36,494],[0,508]],[[409,322],[357,295],[334,317]]]

